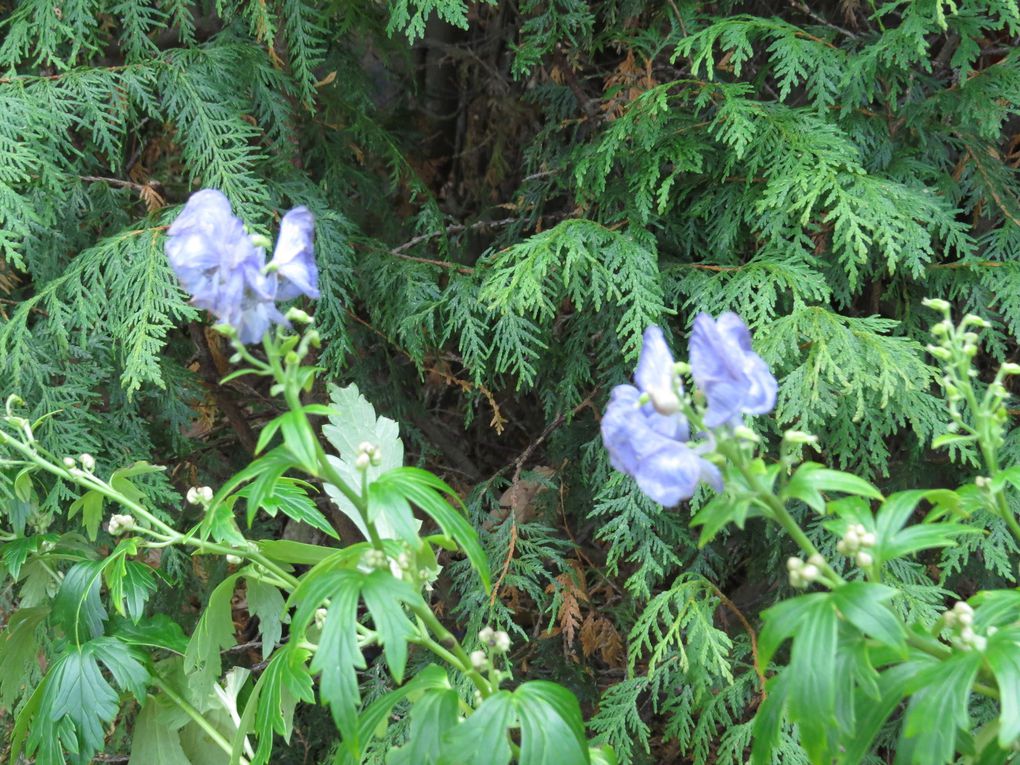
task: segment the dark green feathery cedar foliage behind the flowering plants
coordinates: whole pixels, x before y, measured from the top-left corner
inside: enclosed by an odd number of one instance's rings
[[[760,693],[749,635],[786,592],[777,539],[756,527],[700,549],[688,508],[663,511],[609,469],[598,415],[643,328],[681,347],[698,311],[738,311],[781,380],[765,427],[816,432],[823,461],[890,488],[949,483],[972,460],[926,449],[944,415],[920,300],[993,320],[989,358],[1016,358],[1015,2],[3,12],[2,394],[64,411],[40,431],[56,454],[168,465],[150,487],[177,517],[183,492],[243,464],[276,412],[266,391],[213,385],[223,347],[162,232],[200,187],[266,232],[266,210],[307,205],[321,364],[470,498],[502,572],[490,603],[448,561],[445,618],[508,628],[528,676],[571,686],[624,761],[743,761]],[[8,494],[18,533],[59,530],[71,496]],[[903,607],[1015,585],[1014,543],[984,530],[904,564]],[[180,602],[150,609],[187,619],[224,575],[186,563],[162,560]],[[0,617],[39,597],[29,574]],[[0,682],[0,701],[23,703],[18,688]],[[304,713],[304,752],[282,757],[324,757],[321,718]],[[158,728],[119,724],[113,754]],[[803,761],[789,737],[783,762]]]

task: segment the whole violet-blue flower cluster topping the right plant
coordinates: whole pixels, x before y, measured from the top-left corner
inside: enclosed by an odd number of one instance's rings
[[[724,313],[718,320],[701,314],[691,337],[691,373],[707,406],[707,427],[737,426],[742,414],[763,414],[775,405],[776,380],[765,362],[751,350],[751,334],[741,318]],[[683,414],[680,369],[662,329],[645,330],[634,371],[634,386],[617,386],[602,419],[602,438],[609,461],[638,481],[661,505],[690,499],[701,481],[722,490],[719,468],[705,459],[713,448],[691,442],[691,424]]]

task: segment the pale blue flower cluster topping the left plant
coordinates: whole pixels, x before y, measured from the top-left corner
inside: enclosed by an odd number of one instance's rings
[[[192,195],[170,225],[166,256],[194,305],[233,326],[242,343],[257,343],[270,324],[287,323],[277,300],[318,298],[314,225],[304,207],[288,212],[266,265],[265,250],[234,215],[226,197],[205,189]]]

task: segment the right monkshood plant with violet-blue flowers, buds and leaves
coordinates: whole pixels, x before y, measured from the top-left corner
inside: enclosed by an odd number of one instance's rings
[[[777,385],[732,313],[695,319],[690,364],[675,363],[662,330],[649,327],[636,387],[611,396],[602,431],[614,467],[663,505],[690,499],[702,480],[718,493],[691,521],[702,527],[701,544],[728,523],[762,516],[799,548],[786,559],[789,584],[814,592],[763,614],[754,658],[763,682],[770,666],[774,672],[755,715],[752,763],[775,761],[789,724],[812,763],[861,763],[901,704],[897,763],[947,763],[958,753],[968,763],[1006,763],[1020,748],[1020,591],[977,593],[932,620],[899,607],[900,593],[886,583],[903,559],[973,533],[958,522],[969,514],[1002,519],[1020,543],[1007,497],[1020,488],[1020,468],[998,460],[1008,419],[1003,384],[1020,365],[1004,364],[979,396],[973,328],[985,322],[968,315],[955,325],[946,301],[926,304],[944,315],[929,350],[944,364],[951,415],[934,446],[976,445],[987,471],[958,491],[884,496],[856,475],[802,462],[799,453],[817,439],[800,431],[783,435],[778,461],[757,456],[761,439],[743,417],[769,412]],[[812,533],[796,508],[817,516]],[[920,522],[910,523],[919,512]]]

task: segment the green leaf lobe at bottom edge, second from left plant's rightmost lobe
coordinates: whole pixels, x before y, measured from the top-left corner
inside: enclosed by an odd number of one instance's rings
[[[507,728],[516,724],[516,704],[509,691],[497,691],[486,699],[470,717],[447,731],[439,765],[507,765],[511,756]],[[529,712],[532,717],[538,713]]]

